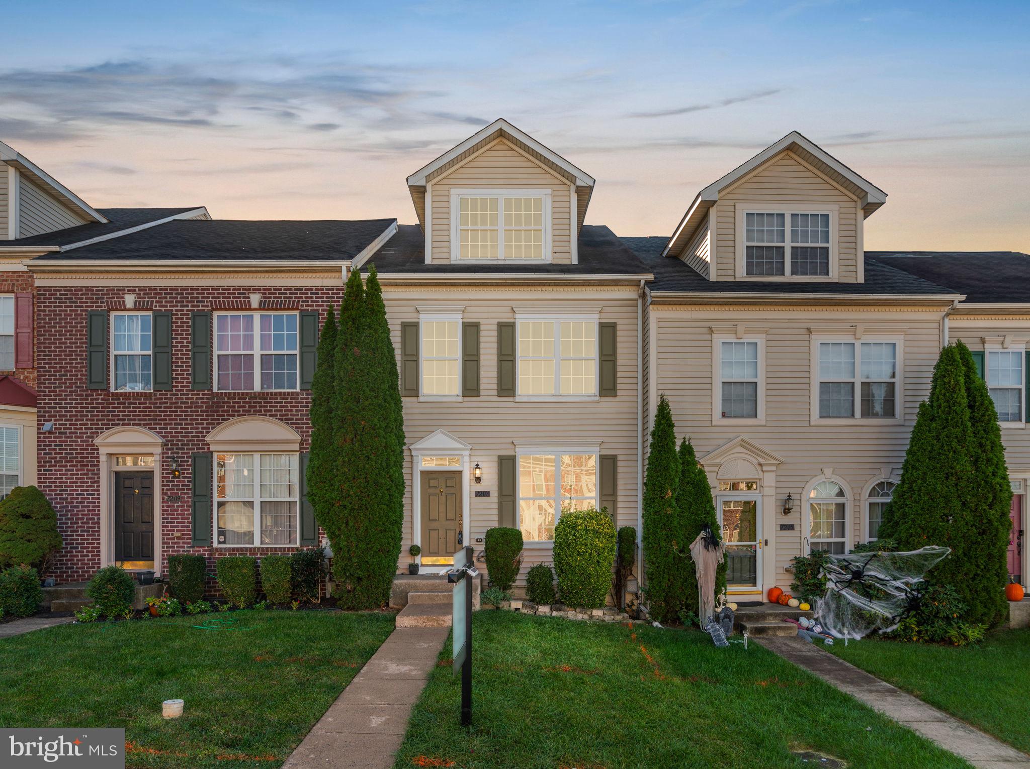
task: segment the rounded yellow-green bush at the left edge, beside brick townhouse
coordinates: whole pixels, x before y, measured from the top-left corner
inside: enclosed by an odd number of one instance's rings
[[[35,486],[15,486],[0,502],[0,569],[22,563],[46,574],[64,543],[54,506]]]

